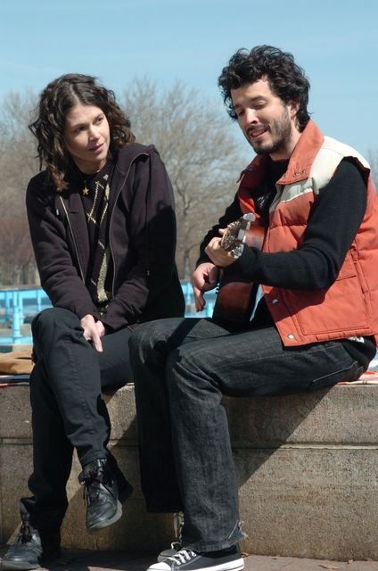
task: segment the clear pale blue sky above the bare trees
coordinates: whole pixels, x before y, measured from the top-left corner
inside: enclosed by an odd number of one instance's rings
[[[260,44],[306,70],[308,108],[326,135],[378,150],[376,0],[1,0],[0,97],[77,71],[116,94],[136,76],[180,79],[224,112],[220,70]]]

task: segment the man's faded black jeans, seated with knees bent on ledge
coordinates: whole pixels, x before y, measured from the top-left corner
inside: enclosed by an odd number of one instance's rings
[[[222,395],[316,391],[363,372],[339,342],[287,349],[274,327],[230,333],[211,319],[162,319],[130,339],[141,477],[149,511],[185,511],[182,543],[242,539]]]

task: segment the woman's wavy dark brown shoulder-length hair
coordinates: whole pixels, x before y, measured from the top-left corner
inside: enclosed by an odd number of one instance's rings
[[[35,110],[37,119],[30,123],[29,129],[37,137],[39,167],[42,169],[45,164],[49,182],[58,192],[67,188],[65,175],[72,164],[64,144],[66,115],[78,104],[95,105],[103,111],[111,131],[110,157],[136,140],[131,123],[116,103],[114,93],[99,85],[94,77],[68,73],[54,79],[41,92]]]

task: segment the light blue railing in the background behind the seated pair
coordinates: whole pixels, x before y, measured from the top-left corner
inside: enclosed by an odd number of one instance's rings
[[[194,310],[193,288],[190,282],[183,282],[185,296],[185,317],[211,317],[214,309],[215,295],[206,294],[206,307],[201,313]],[[33,286],[0,288],[0,322],[9,323],[9,329],[1,329],[0,343],[32,343],[30,335],[25,335],[21,327],[25,320],[37,315],[39,311],[52,307],[52,304],[41,288]],[[9,331],[9,335],[6,335]]]

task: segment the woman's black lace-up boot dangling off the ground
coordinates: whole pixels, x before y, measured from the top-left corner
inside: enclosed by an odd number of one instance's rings
[[[90,462],[78,476],[80,484],[85,485],[86,495],[86,531],[94,534],[108,525],[114,524],[122,515],[122,503],[133,492],[127,482],[119,481],[109,467],[107,459]]]

